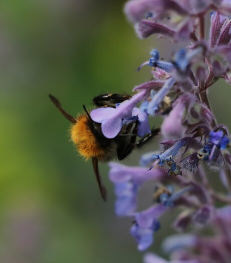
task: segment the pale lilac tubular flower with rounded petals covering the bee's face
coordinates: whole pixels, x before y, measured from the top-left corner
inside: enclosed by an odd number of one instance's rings
[[[122,102],[117,108],[97,108],[91,111],[90,116],[93,121],[102,123],[102,134],[108,138],[115,138],[121,131],[123,119],[129,120],[133,114],[133,108],[146,97],[146,91],[140,91],[131,99]],[[139,117],[139,116],[138,116]],[[145,128],[147,129],[147,122]],[[140,125],[140,128],[142,125]],[[143,128],[141,133],[143,133]],[[139,134],[139,132],[138,132]]]

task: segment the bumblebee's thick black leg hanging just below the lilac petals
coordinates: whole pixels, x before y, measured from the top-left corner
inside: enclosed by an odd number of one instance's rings
[[[137,131],[138,131],[138,120],[136,120],[136,124],[132,129],[132,135],[130,141],[123,140],[121,143],[118,144],[117,148],[117,156],[119,160],[125,159],[127,156],[131,154],[131,152],[136,147],[136,138],[137,138]]]

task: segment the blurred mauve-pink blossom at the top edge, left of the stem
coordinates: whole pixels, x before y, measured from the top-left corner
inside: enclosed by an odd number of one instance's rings
[[[125,13],[141,39],[161,34],[175,41],[188,40],[193,31],[193,20],[185,19],[188,12],[178,1],[132,0],[126,4]],[[169,17],[171,20],[165,23],[163,18]]]

